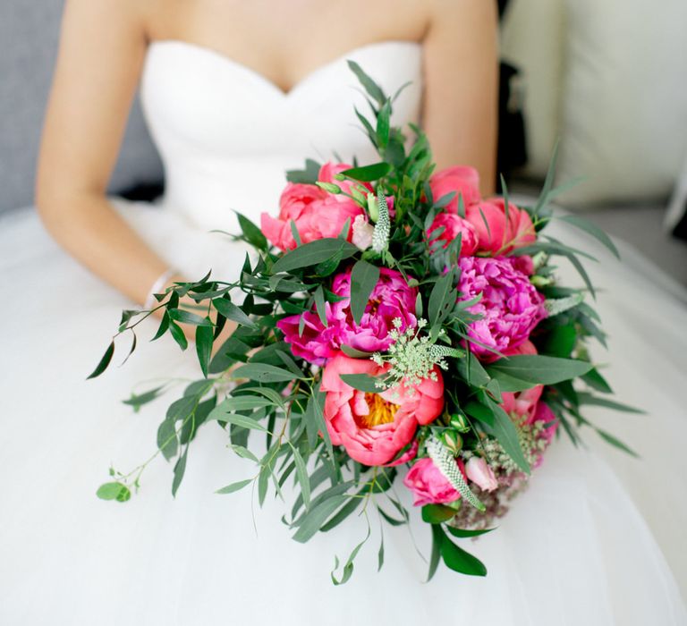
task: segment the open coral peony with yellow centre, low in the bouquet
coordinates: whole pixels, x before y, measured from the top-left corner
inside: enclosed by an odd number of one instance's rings
[[[379,376],[381,368],[371,360],[337,354],[327,362],[321,389],[327,392],[325,422],[332,444],[343,445],[354,461],[384,465],[410,444],[419,424],[429,424],[444,409],[444,380],[429,378],[414,387],[404,385],[382,393],[364,393],[346,385],[342,374]]]

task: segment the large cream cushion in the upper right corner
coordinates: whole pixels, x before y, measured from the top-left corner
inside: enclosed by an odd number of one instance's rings
[[[565,202],[666,199],[687,148],[687,2],[565,9],[559,180],[588,177]]]

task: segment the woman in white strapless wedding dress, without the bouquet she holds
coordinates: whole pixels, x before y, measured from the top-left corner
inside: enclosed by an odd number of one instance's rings
[[[280,501],[253,519],[249,490],[215,495],[250,477],[216,427],[200,430],[175,499],[163,461],[131,502],[96,498],[108,463],[128,470],[155,448],[160,404],[134,414],[121,401],[153,374],[198,377],[193,355],[163,340],[86,382],[120,310],[209,267],[233,275],[242,247],[208,231],[234,230],[233,209],[256,222],[274,211],[284,170],[304,157],[373,158],[354,128],[362,99],[346,59],[388,93],[411,80],[394,123],[420,121],[439,167],[475,165],[483,192],[493,191],[494,3],[68,0],[36,202],[69,255],[35,213],[0,231],[0,622],[687,623],[678,586],[687,588],[687,315],[629,249],[624,266],[604,258],[591,268],[612,335],[597,358],[610,360],[620,400],[649,414],[589,417],[642,459],[591,436],[585,450],[557,441],[498,531],[471,546],[486,579],[439,571],[423,584],[418,553],[428,555],[429,537],[414,512],[410,534],[385,529],[381,573],[377,548],[366,547],[352,580],[335,588],[334,554],[364,529],[352,522],[302,546],[280,521]],[[165,195],[153,203],[105,191],[139,81],[165,163]]]

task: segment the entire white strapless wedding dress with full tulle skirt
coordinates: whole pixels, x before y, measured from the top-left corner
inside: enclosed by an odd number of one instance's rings
[[[233,209],[256,222],[277,210],[284,170],[304,157],[374,158],[355,128],[363,106],[344,63],[361,64],[388,93],[407,80],[395,122],[417,120],[421,47],[386,41],[360,47],[312,72],[289,93],[205,47],[158,41],[148,50],[142,101],[166,170],[154,204],[112,198],[122,215],[174,266],[199,278],[235,273],[243,251],[210,229],[235,229]],[[563,232],[558,227],[559,234]],[[600,255],[578,233],[575,246]],[[334,587],[364,537],[352,518],[310,543],[290,538],[290,503],[250,488],[215,495],[254,475],[210,424],[191,446],[186,477],[170,494],[171,468],[152,463],[131,502],[95,495],[110,463],[128,471],[155,450],[164,402],[139,413],[121,402],[155,376],[199,377],[192,351],[171,338],[138,350],[123,368],[86,381],[114,333],[125,300],[51,241],[35,212],[0,220],[0,624],[242,626],[445,623],[506,626],[623,626],[687,623],[687,311],[683,293],[624,249],[589,266],[598,309],[611,334],[607,377],[618,400],[646,416],[589,410],[642,455],[625,458],[586,434],[590,449],[564,437],[552,445],[529,490],[496,532],[465,542],[486,579],[442,565],[429,584],[407,528],[384,529],[386,564],[377,573],[379,524],[352,580]],[[579,279],[562,270],[565,280]],[[154,334],[151,323],[140,339]],[[128,340],[118,344],[123,359]],[[176,390],[181,393],[181,388]],[[399,492],[403,486],[399,486]],[[408,502],[409,497],[404,500]],[[257,501],[257,498],[256,498]],[[429,528],[412,512],[411,532],[428,557]]]

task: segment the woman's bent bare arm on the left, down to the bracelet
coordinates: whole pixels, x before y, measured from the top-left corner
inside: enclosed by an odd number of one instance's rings
[[[166,264],[106,199],[146,54],[145,0],[68,0],[43,128],[36,205],[47,230],[134,302]]]

